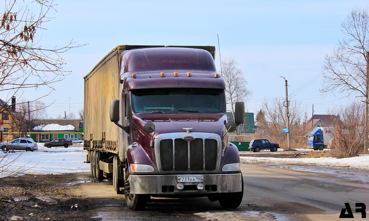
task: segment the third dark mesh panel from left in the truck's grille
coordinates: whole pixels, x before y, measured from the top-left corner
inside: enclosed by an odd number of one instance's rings
[[[215,155],[217,154],[216,149],[217,148],[215,147]],[[193,141],[190,141],[190,170],[202,171],[203,169],[204,169],[203,139],[196,138]]]

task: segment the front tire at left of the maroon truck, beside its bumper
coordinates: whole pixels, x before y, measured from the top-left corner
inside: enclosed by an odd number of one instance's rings
[[[128,177],[130,176],[130,170],[128,165],[125,168],[124,174],[124,189],[125,189],[125,202],[130,210],[143,210],[146,206],[146,202],[149,200],[150,195],[146,194],[131,194],[130,182]]]

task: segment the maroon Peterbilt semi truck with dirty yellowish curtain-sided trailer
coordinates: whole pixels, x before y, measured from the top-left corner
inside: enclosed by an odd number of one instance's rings
[[[85,79],[85,141],[91,175],[113,179],[131,210],[153,197],[242,201],[238,149],[228,132],[214,46],[118,45]]]

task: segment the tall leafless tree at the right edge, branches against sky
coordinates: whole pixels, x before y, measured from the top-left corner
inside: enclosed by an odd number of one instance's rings
[[[339,41],[332,55],[325,56],[323,93],[345,93],[363,97],[366,103],[365,130],[368,131],[369,95],[369,14],[368,9],[354,8],[341,23],[345,38]],[[368,143],[366,138],[365,145]],[[364,145],[364,146],[365,146]]]

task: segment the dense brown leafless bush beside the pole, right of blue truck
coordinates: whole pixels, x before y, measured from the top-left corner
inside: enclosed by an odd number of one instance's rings
[[[349,106],[338,106],[330,112],[339,115],[340,118],[332,118],[334,142],[331,145],[332,156],[336,158],[347,158],[359,156],[363,149],[365,135],[368,133],[364,127],[364,105],[360,101],[354,101]]]

